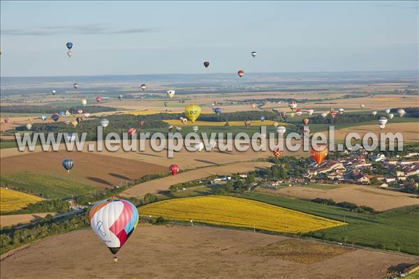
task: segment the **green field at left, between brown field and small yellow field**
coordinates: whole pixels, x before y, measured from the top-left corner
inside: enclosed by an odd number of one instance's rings
[[[44,197],[45,199],[61,199],[72,195],[89,193],[96,188],[76,183],[68,179],[56,178],[31,172],[17,172],[0,177],[1,185],[16,190],[23,190]]]

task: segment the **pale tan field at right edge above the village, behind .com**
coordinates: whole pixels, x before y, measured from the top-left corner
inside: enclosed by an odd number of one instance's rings
[[[380,131],[377,125],[362,125],[351,128],[345,128],[336,130],[335,139],[344,140],[348,133],[358,133],[361,138],[369,132],[377,135],[378,140],[380,139],[380,133],[402,133],[403,142],[419,142],[419,123],[418,122],[406,122],[406,123],[389,123],[385,125],[385,128]]]

